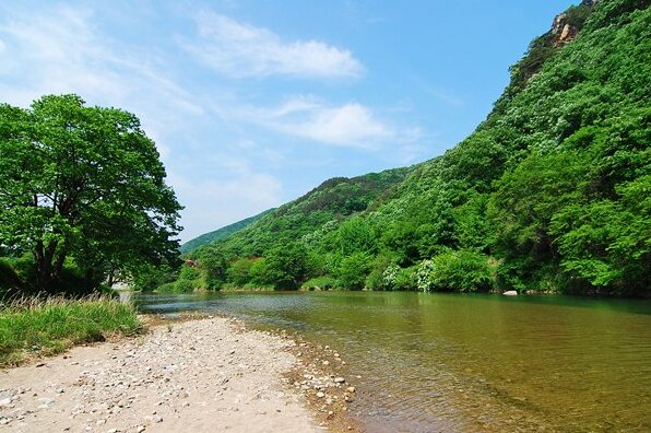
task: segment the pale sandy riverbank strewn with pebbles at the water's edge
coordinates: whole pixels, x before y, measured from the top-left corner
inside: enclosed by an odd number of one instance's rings
[[[317,372],[300,379],[300,350],[227,318],[159,325],[0,371],[0,431],[323,431],[315,401],[332,393],[316,396]]]

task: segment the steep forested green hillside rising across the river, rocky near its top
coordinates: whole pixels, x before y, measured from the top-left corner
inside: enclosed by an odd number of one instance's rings
[[[409,171],[328,180],[196,250],[200,266],[180,280],[648,295],[648,3],[571,7],[455,148]]]

